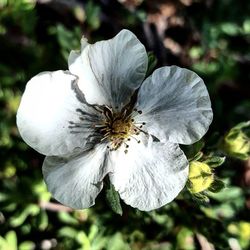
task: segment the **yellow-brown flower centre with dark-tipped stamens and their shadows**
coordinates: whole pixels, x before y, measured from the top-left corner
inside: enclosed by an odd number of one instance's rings
[[[117,150],[121,145],[125,146],[124,152],[128,152],[129,141],[131,139],[140,143],[136,137],[143,131],[145,122],[135,122],[133,116],[142,114],[141,110],[133,109],[131,107],[124,107],[122,111],[117,112],[108,106],[95,107],[95,111],[100,112],[101,117],[98,115],[91,115],[81,109],[76,109],[79,113],[79,122],[69,121],[68,128],[70,133],[78,134],[83,133],[85,129],[89,130],[94,128],[93,135],[90,135],[90,142],[94,141],[93,137],[98,142],[107,141],[107,146],[110,150]]]

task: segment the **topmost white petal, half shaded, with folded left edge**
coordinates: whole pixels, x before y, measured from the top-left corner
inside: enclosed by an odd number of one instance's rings
[[[121,107],[142,83],[147,53],[136,36],[122,30],[113,39],[71,52],[69,70],[79,76],[79,86],[89,103]]]

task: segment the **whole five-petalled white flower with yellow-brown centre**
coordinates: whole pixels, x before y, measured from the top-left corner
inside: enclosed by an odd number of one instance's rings
[[[108,175],[125,203],[149,211],[172,201],[188,178],[179,148],[207,131],[211,103],[203,81],[176,66],[144,82],[147,53],[122,30],[70,53],[69,71],[27,84],[17,113],[22,138],[47,155],[49,191],[75,209],[90,207]]]

